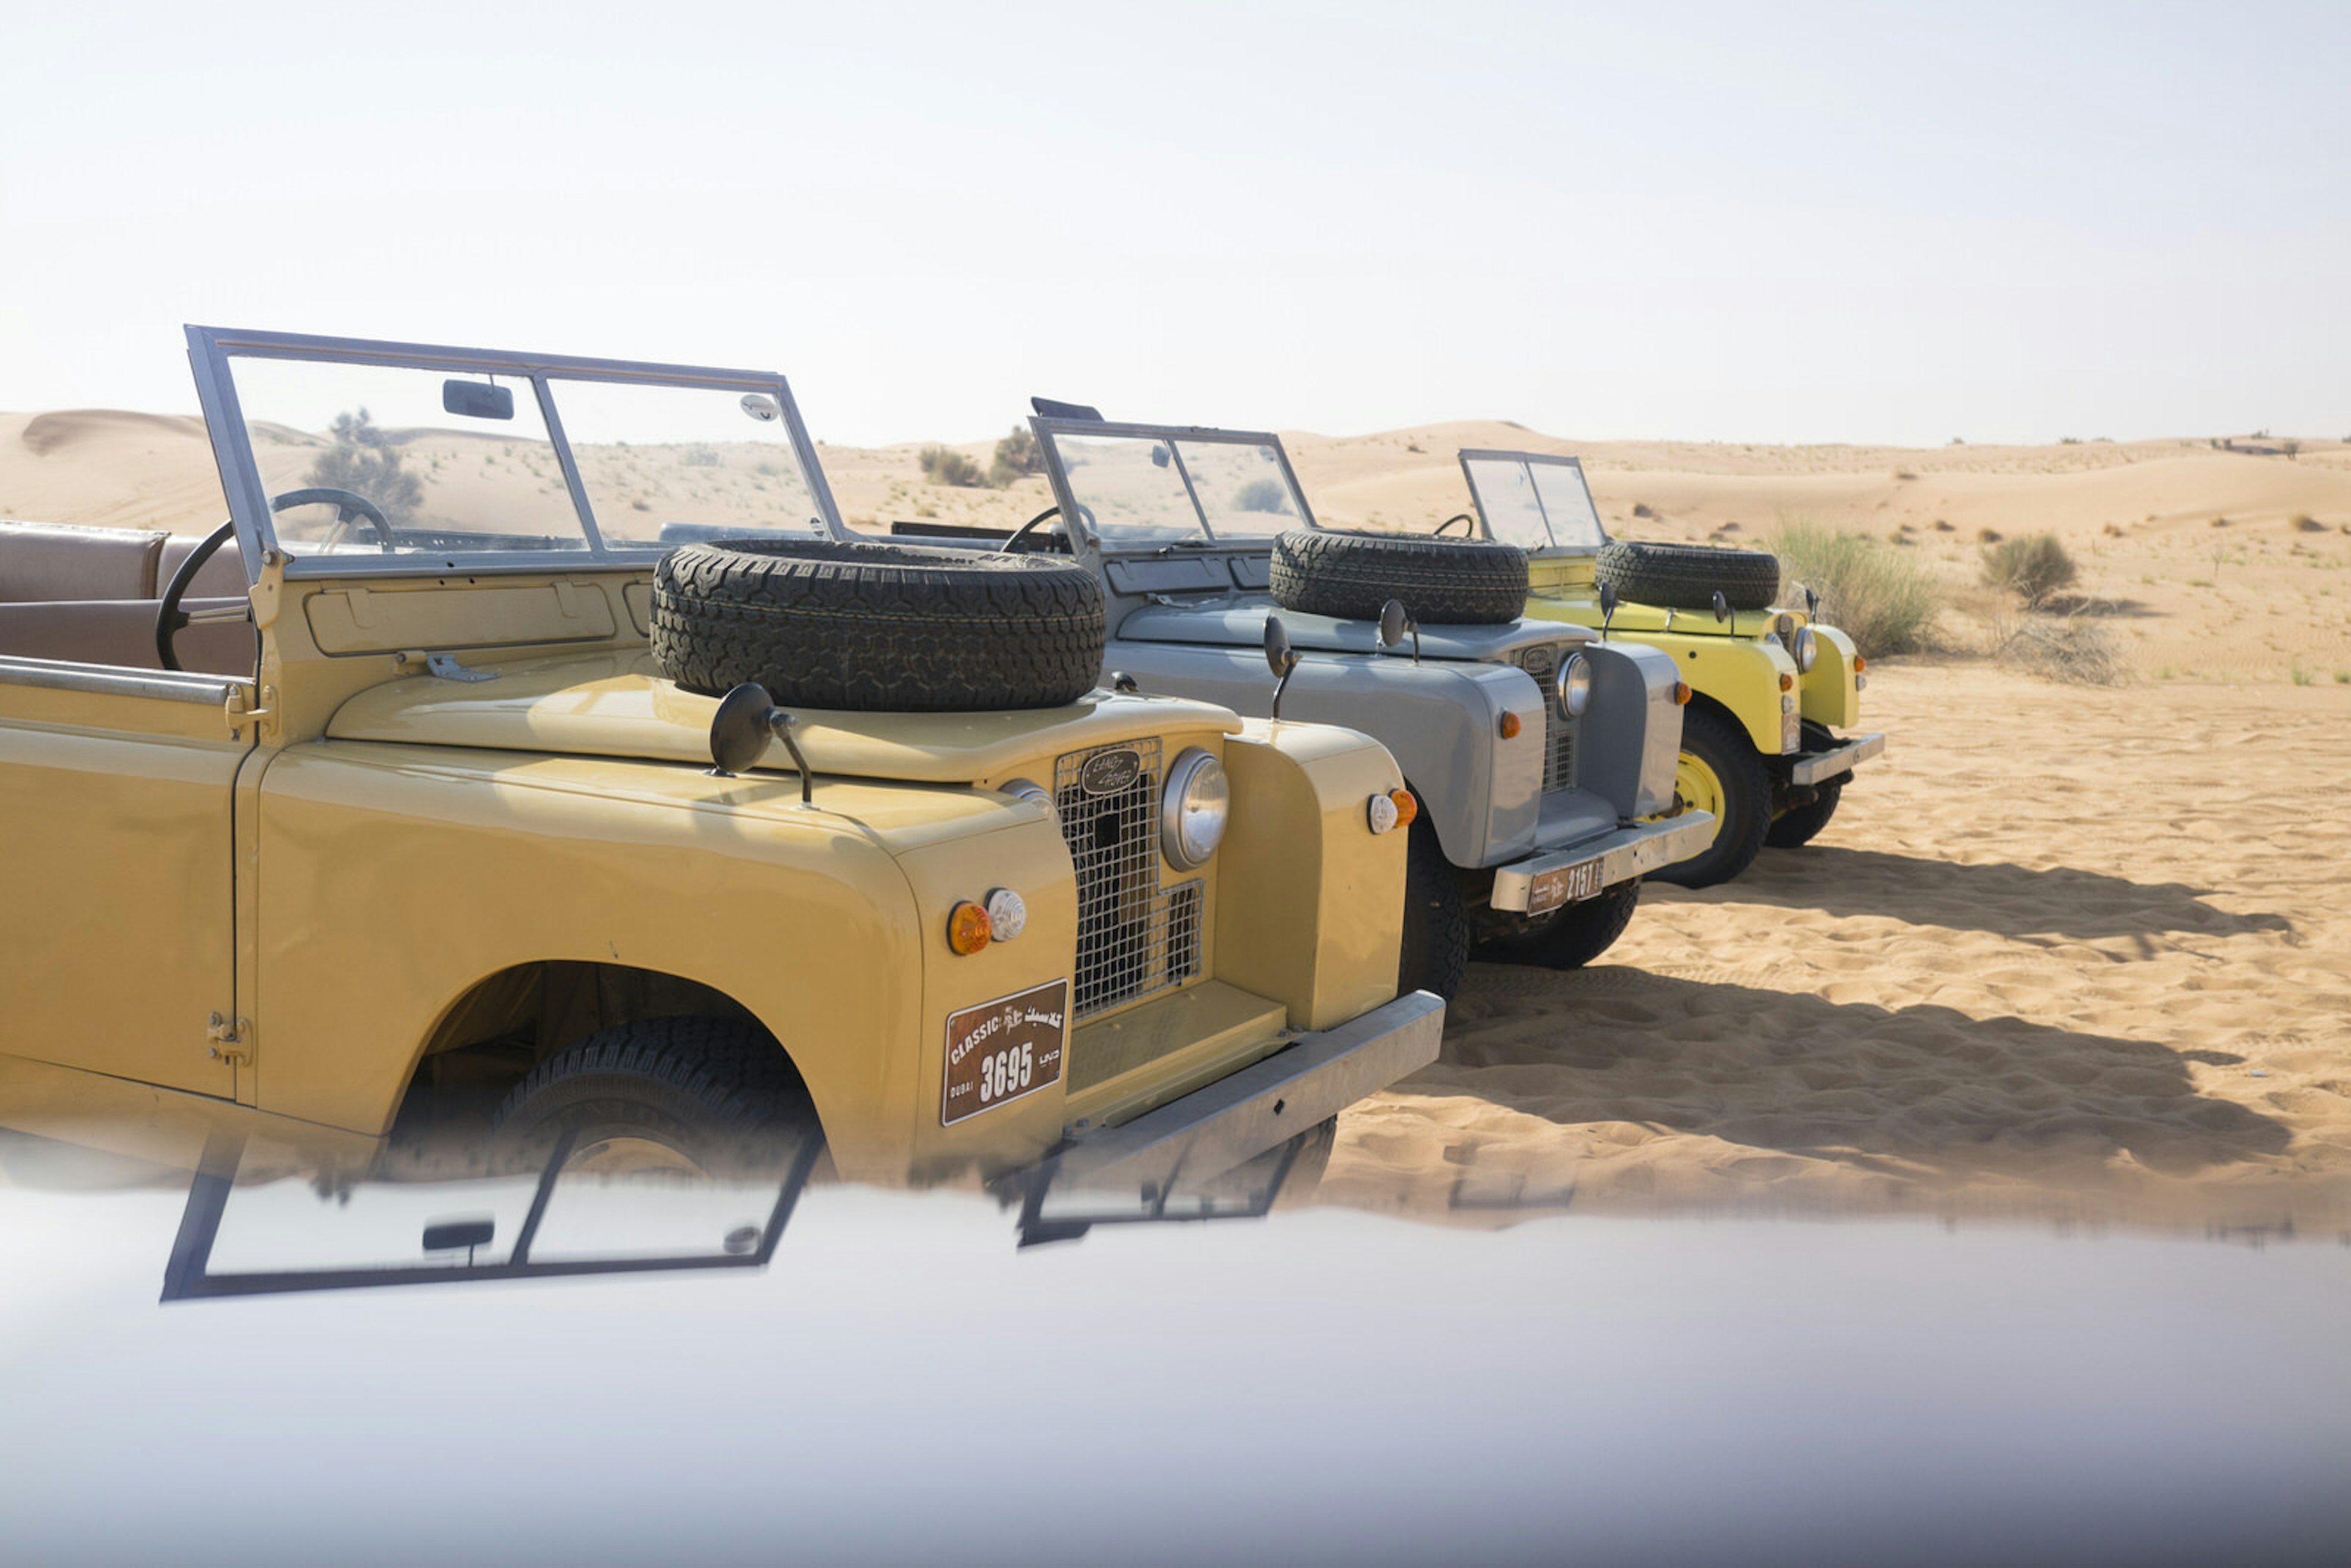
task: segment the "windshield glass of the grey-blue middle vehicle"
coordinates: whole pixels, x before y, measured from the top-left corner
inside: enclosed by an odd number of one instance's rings
[[[1312,527],[1270,437],[1046,430],[1049,461],[1107,545],[1258,541]]]

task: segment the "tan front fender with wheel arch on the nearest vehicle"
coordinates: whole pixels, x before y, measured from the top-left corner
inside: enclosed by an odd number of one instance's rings
[[[903,1150],[912,1053],[891,1046],[919,1027],[922,943],[943,933],[891,853],[823,811],[825,795],[799,816],[797,780],[289,748],[261,790],[263,1110],[383,1131],[475,983],[583,961],[722,992],[783,1041],[828,1133]]]

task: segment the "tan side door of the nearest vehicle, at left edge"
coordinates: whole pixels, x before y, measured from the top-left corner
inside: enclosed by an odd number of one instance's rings
[[[230,684],[52,679],[0,675],[0,1048],[247,1091],[207,1039],[237,1013],[230,799],[252,729],[230,738]]]

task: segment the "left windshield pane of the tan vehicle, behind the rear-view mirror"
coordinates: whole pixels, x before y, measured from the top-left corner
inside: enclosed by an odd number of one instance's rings
[[[245,355],[230,374],[287,555],[588,548],[524,376]]]

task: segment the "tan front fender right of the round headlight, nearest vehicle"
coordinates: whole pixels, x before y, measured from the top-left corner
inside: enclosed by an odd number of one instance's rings
[[[1385,748],[1324,724],[1248,719],[1225,743],[1232,825],[1218,851],[1218,978],[1328,1030],[1396,997],[1406,832],[1371,832],[1404,783]]]

